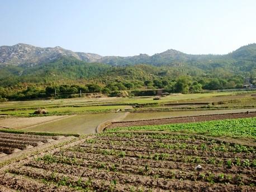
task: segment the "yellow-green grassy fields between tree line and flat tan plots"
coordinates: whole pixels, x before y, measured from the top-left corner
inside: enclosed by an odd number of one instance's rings
[[[83,114],[92,112],[115,112],[117,109],[123,111],[148,110],[152,105],[159,105],[160,108],[177,108],[174,105],[181,103],[198,103],[188,104],[187,107],[197,108],[215,107],[228,108],[239,107],[248,108],[256,106],[256,98],[250,93],[203,93],[203,94],[174,94],[162,97],[160,100],[153,100],[155,97],[134,97],[134,98],[72,98],[72,99],[52,99],[52,100],[30,100],[20,102],[2,102],[0,103],[0,116],[33,116],[37,108],[46,109],[48,115],[54,114]],[[225,103],[223,103],[225,101]],[[177,103],[178,102],[178,103]],[[214,103],[214,106],[207,103]],[[222,103],[218,103],[222,102]],[[166,106],[165,106],[166,105]],[[138,107],[139,108],[132,108]],[[186,107],[186,106],[181,106]],[[168,110],[169,110],[168,109]],[[153,110],[157,111],[155,106]]]

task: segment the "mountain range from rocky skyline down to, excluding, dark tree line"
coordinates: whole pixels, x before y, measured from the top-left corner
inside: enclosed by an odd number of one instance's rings
[[[195,78],[256,77],[256,44],[226,55],[189,55],[169,49],[152,56],[101,56],[61,47],[26,44],[0,47],[0,86],[18,83],[113,79],[147,80],[189,75]]]

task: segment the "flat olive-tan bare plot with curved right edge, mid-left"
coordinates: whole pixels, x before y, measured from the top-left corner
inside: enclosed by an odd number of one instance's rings
[[[80,114],[22,129],[35,132],[91,134],[95,133],[98,124],[124,115],[125,113]]]

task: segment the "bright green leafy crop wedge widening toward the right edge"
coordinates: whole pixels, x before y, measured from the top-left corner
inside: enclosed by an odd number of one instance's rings
[[[256,139],[256,118],[241,118],[199,123],[177,123],[156,126],[134,126],[107,129],[108,132],[140,130],[197,133],[216,137],[229,136],[248,137]]]

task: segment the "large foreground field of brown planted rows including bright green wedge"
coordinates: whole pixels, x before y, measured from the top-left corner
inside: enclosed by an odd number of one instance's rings
[[[0,189],[255,191],[255,119],[108,129],[2,167]]]

